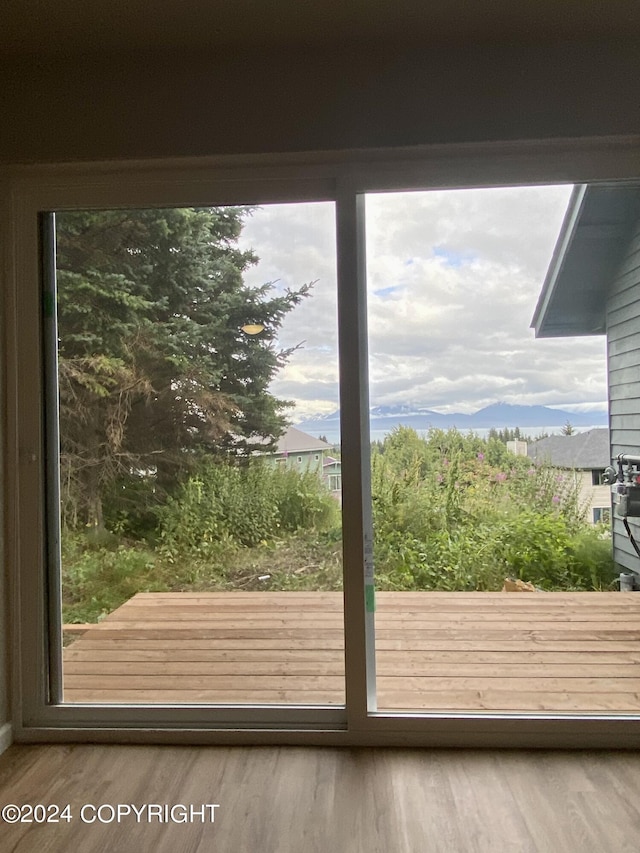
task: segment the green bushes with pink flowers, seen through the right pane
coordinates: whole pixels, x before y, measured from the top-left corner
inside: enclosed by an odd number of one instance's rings
[[[455,430],[399,445],[409,432],[372,457],[379,587],[499,590],[507,576],[543,589],[610,587],[610,541],[585,523],[571,474]]]

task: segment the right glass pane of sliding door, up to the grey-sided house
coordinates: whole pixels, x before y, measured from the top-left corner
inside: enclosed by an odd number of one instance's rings
[[[605,338],[530,329],[570,193],[367,197],[380,711],[638,710]]]

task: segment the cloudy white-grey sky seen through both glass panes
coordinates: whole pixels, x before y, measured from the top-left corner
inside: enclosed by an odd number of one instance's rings
[[[604,337],[536,340],[529,328],[570,187],[367,197],[372,405],[474,412],[504,401],[606,409]],[[251,284],[313,295],[287,317],[304,341],[273,383],[294,420],[338,406],[336,255],[331,203],[265,206],[243,231]]]

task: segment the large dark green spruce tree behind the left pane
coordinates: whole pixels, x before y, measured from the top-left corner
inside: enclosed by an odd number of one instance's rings
[[[56,216],[61,481],[66,520],[101,527],[118,477],[165,488],[197,458],[275,440],[287,403],[269,383],[285,315],[310,285],[248,287],[248,208]],[[243,327],[245,327],[243,329]]]

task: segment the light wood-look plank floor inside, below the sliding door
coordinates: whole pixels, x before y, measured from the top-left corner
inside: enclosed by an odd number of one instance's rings
[[[0,806],[72,818],[0,823],[0,851],[637,853],[638,790],[634,752],[14,745]],[[80,817],[148,803],[219,808],[213,823]]]

